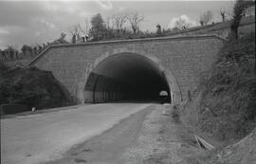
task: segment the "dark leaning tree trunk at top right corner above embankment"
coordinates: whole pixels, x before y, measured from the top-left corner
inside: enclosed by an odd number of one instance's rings
[[[231,23],[231,36],[230,40],[238,39],[238,27],[242,17],[245,15],[247,8],[255,6],[254,0],[237,0],[233,9],[233,20]]]

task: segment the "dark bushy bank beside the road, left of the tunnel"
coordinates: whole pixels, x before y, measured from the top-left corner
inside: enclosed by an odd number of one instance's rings
[[[5,103],[43,109],[71,102],[50,72],[35,67],[11,68],[0,63],[0,104]]]

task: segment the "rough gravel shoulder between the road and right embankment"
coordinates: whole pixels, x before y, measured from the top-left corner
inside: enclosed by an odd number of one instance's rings
[[[192,164],[197,162],[194,156],[206,155],[197,148],[192,133],[173,118],[172,107],[164,108],[157,105],[146,117],[137,143],[126,149],[120,163]]]

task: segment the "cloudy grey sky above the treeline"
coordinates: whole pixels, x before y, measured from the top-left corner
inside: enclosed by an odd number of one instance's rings
[[[85,25],[86,18],[101,13],[107,18],[119,12],[137,11],[144,15],[141,30],[155,31],[156,24],[172,27],[182,16],[197,25],[200,14],[211,10],[219,21],[220,9],[231,12],[234,1],[2,1],[0,0],[0,48],[41,45],[60,37],[61,32]],[[69,36],[65,38],[69,40]]]

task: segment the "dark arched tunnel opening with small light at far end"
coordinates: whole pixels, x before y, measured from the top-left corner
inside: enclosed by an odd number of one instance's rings
[[[101,61],[84,87],[85,103],[171,102],[163,71],[152,60],[135,53],[119,53]],[[165,92],[166,95],[160,95]]]

